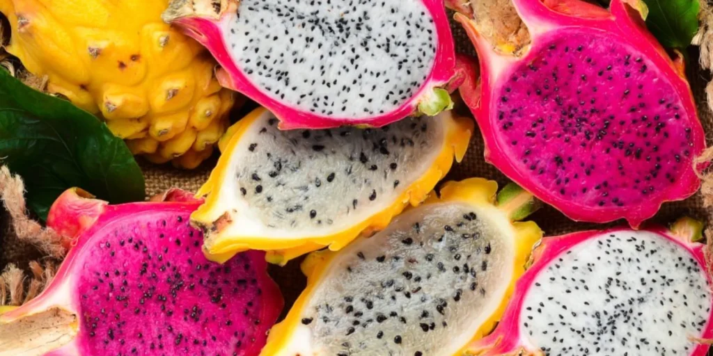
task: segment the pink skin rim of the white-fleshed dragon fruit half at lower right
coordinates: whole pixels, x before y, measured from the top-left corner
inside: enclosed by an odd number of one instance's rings
[[[537,345],[530,345],[527,341],[527,337],[523,335],[524,331],[520,329],[519,319],[520,311],[523,309],[523,304],[525,303],[525,297],[527,296],[528,290],[532,288],[535,278],[537,278],[543,270],[552,266],[553,263],[556,263],[558,257],[562,256],[563,253],[566,253],[576,245],[588,241],[593,238],[593,236],[602,236],[617,231],[630,231],[630,229],[615,228],[605,231],[582,231],[563,236],[545,237],[540,246],[535,248],[535,251],[533,251],[533,265],[525,271],[525,274],[523,274],[523,276],[520,277],[518,282],[515,284],[513,298],[508,303],[508,307],[506,308],[500,323],[498,323],[496,330],[494,330],[493,333],[487,337],[474,342],[470,347],[468,347],[469,350],[475,352],[475,355],[478,356],[516,355],[515,352],[519,352],[520,350],[524,350],[525,355],[530,355],[527,352],[533,352],[535,355],[539,355],[536,353],[540,351],[537,348]],[[671,231],[660,226],[648,228],[645,229],[645,231],[659,234],[660,236],[670,239],[671,241],[674,241],[674,243],[683,246],[687,251],[689,251],[691,257],[694,258],[700,268],[703,271],[706,271],[704,244],[699,244],[697,242],[688,241],[687,239],[679,236],[674,236]],[[642,253],[645,253],[645,251]],[[710,286],[711,283],[713,283],[713,280],[709,273],[706,273],[706,277]],[[704,332],[701,335],[702,339],[710,339],[713,337],[713,323],[710,322],[712,319],[713,308],[710,310],[708,323],[705,325]],[[688,355],[705,356],[709,347],[710,345],[699,344],[694,347],[694,350],[692,350]]]

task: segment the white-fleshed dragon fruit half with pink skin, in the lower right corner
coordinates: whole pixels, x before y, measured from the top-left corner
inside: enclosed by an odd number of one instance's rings
[[[498,328],[468,355],[704,356],[711,276],[689,218],[669,231],[620,228],[549,237]]]

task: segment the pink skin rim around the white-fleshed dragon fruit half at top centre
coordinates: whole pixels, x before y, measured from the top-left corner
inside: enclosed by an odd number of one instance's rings
[[[235,66],[235,61],[233,61],[230,53],[227,51],[221,28],[225,27],[222,22],[227,21],[230,16],[223,16],[220,20],[207,19],[200,16],[187,16],[175,19],[172,23],[178,25],[188,36],[195,38],[196,41],[205,46],[208,51],[212,53],[212,56],[215,57],[217,62],[220,63],[222,70],[218,71],[217,78],[222,86],[243,93],[248,98],[265,106],[265,108],[277,116],[280,120],[279,127],[283,130],[299,128],[326,129],[342,125],[381,127],[389,125],[391,122],[399,121],[409,115],[414,115],[419,103],[424,99],[424,95],[429,93],[429,90],[446,86],[453,87],[453,85],[449,85],[449,83],[455,74],[455,45],[453,44],[451,27],[448,24],[448,16],[443,8],[443,1],[422,0],[422,2],[426,5],[426,8],[429,9],[436,24],[438,40],[433,69],[419,91],[416,92],[411,99],[400,105],[399,108],[381,115],[366,117],[318,115],[317,113],[299,110],[298,108],[285,105],[285,103],[282,103],[271,95],[267,95],[263,90],[258,88],[257,85],[253,84],[240,68]],[[229,13],[230,9],[231,8],[225,11],[225,14]]]

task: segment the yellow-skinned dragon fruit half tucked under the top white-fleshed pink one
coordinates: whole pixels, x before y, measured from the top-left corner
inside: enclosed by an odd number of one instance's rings
[[[379,129],[282,131],[258,108],[219,142],[191,223],[215,261],[248,248],[281,264],[324,246],[336,251],[424,201],[453,156],[465,155],[472,131],[471,119],[450,111]]]

